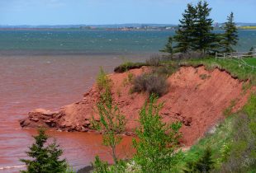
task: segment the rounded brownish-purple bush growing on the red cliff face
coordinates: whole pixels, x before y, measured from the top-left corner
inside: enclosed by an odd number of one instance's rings
[[[149,95],[156,94],[163,96],[168,91],[168,83],[166,77],[156,73],[142,74],[135,77],[132,92],[148,92]]]

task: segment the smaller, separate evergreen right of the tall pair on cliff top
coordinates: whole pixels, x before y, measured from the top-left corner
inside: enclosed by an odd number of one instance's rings
[[[223,40],[221,41],[224,51],[234,52],[235,50],[232,48],[232,46],[236,45],[239,39],[238,31],[234,22],[233,12],[231,12],[230,16],[228,16],[227,21],[225,22],[224,25],[224,29],[225,33],[223,35]]]

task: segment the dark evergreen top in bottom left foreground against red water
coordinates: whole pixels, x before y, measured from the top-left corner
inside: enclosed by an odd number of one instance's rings
[[[63,150],[59,148],[59,145],[54,141],[48,146],[45,143],[48,140],[48,136],[45,134],[45,129],[38,129],[38,135],[33,138],[36,143],[33,143],[29,147],[30,151],[26,152],[28,157],[32,160],[21,159],[26,164],[26,171],[21,173],[62,173],[67,170],[67,163],[64,160],[59,160]]]

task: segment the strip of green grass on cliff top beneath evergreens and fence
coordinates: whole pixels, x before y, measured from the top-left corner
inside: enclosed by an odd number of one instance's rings
[[[249,64],[256,63],[253,58],[246,58]],[[253,85],[256,85],[256,69],[249,67],[239,67],[239,64],[234,61],[216,59],[216,58],[202,58],[202,59],[187,59],[180,62],[184,66],[197,67],[198,65],[204,65],[206,69],[213,70],[220,68],[226,72],[230,72],[232,77],[237,77],[241,81],[250,80]]]

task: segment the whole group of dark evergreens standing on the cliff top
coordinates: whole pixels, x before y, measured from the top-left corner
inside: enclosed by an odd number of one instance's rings
[[[179,20],[176,35],[168,38],[162,52],[189,53],[197,51],[202,54],[216,52],[233,52],[233,46],[238,42],[238,31],[235,26],[234,14],[230,13],[224,24],[225,33],[213,33],[213,20],[210,17],[211,8],[207,2],[198,2],[197,5],[187,4],[183,18]]]

